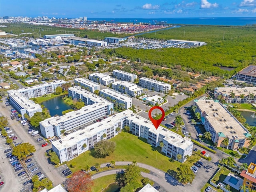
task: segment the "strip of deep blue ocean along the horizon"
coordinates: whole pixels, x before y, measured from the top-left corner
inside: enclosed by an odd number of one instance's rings
[[[212,18],[87,18],[93,21],[134,22],[151,24],[191,24],[245,26],[256,24],[256,17],[212,17]]]

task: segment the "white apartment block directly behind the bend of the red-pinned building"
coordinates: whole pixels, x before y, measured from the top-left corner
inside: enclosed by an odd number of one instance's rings
[[[100,96],[106,100],[113,102],[115,105],[123,109],[132,107],[132,98],[116,93],[110,89],[100,90]]]

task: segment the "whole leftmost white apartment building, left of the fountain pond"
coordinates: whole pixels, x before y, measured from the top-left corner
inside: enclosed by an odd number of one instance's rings
[[[32,117],[35,112],[42,112],[42,108],[39,104],[28,100],[19,90],[10,90],[8,91],[8,95],[10,104],[21,114],[22,120],[24,120],[24,114],[28,114],[29,117]]]

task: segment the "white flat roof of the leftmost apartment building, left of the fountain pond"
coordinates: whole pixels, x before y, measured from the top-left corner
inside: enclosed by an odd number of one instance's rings
[[[20,93],[19,90],[8,91],[8,94],[12,96],[16,103],[28,111],[42,110],[39,104],[34,103],[32,100],[28,100],[28,98],[25,97],[24,94]]]

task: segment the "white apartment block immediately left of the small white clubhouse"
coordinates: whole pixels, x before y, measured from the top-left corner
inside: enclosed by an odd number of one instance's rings
[[[128,94],[132,97],[139,96],[143,93],[142,88],[138,88],[136,84],[127,81],[116,81],[112,83],[112,88],[116,91]]]

